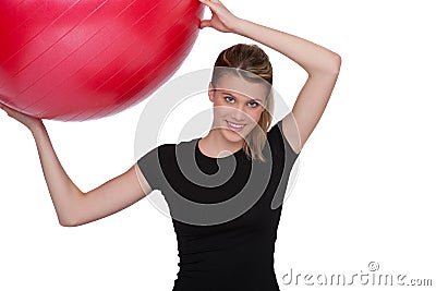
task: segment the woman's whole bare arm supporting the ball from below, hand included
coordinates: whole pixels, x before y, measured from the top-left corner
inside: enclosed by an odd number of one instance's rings
[[[83,193],[71,181],[60,163],[43,121],[3,105],[0,105],[0,108],[31,130],[51,201],[62,226],[74,227],[107,217],[152,192],[135,163],[124,173]]]

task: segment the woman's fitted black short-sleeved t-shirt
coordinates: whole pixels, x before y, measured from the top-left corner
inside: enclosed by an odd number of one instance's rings
[[[266,161],[242,148],[211,158],[198,140],[160,145],[138,161],[170,209],[180,270],[173,291],[279,290],[274,251],[295,154],[281,120],[267,133]]]

